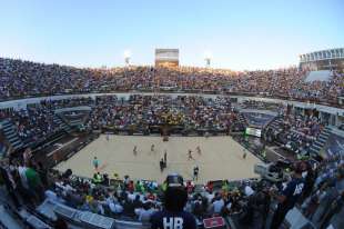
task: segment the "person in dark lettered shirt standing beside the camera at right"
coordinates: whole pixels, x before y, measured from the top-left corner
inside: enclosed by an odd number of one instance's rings
[[[271,229],[280,228],[289,210],[295,206],[297,199],[301,197],[305,186],[302,177],[304,169],[305,163],[297,162],[294,168],[293,179],[282,190],[282,195],[274,195],[279,201],[279,206],[273,216]]]

